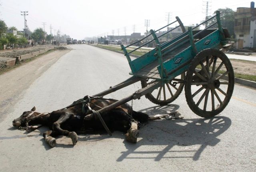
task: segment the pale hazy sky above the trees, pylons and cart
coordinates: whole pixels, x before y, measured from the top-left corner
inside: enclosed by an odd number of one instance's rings
[[[167,25],[168,12],[170,23],[178,16],[184,25],[196,25],[204,20],[206,1],[209,2],[209,14],[218,8],[250,7],[248,0],[0,0],[0,20],[8,27],[24,28],[24,16],[21,11],[28,11],[26,16],[31,31],[38,27],[52,34],[60,29],[74,39],[112,35],[130,35],[144,33],[145,20],[150,20],[149,29],[159,29]],[[175,27],[175,24],[172,25]],[[172,27],[171,26],[171,27]],[[54,31],[55,29],[55,31]]]

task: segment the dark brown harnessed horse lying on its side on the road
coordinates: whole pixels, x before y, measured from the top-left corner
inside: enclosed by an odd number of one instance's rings
[[[23,112],[17,119],[14,119],[12,125],[19,128],[27,126],[27,131],[34,130],[41,125],[46,125],[51,130],[44,132],[43,136],[51,147],[56,146],[56,139],[54,137],[58,135],[70,137],[73,145],[76,145],[78,141],[76,132],[88,129],[104,129],[96,116],[90,119],[86,118],[86,115],[92,113],[91,109],[97,111],[117,101],[114,99],[85,96],[64,109],[46,114],[36,112],[34,107],[30,111]],[[125,137],[132,143],[136,143],[139,136],[138,123],[145,123],[149,120],[147,114],[133,111],[132,107],[127,103],[111,111],[101,113],[101,116],[111,131],[127,132]]]

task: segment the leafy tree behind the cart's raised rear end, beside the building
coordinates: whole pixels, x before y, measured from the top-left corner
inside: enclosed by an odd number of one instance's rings
[[[230,35],[234,36],[234,11],[231,8],[220,8],[218,9],[220,11],[220,21],[222,23],[222,27],[225,27],[228,29]],[[216,14],[216,11],[214,12],[214,15]],[[208,16],[207,18],[211,18],[212,16]],[[212,23],[216,22],[216,18],[211,20],[207,25],[210,25]]]

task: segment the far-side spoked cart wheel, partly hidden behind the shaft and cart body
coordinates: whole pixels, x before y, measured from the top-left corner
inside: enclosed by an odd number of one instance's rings
[[[178,82],[180,80],[184,80],[185,73],[174,78],[174,80],[170,80],[168,83],[160,86],[158,89],[154,90],[151,93],[146,94],[146,98],[150,100],[150,102],[158,105],[167,105],[173,102],[184,87],[184,83],[174,84],[174,82]],[[141,81],[142,88],[148,86],[149,84],[154,83],[156,80],[153,79],[145,79]]]

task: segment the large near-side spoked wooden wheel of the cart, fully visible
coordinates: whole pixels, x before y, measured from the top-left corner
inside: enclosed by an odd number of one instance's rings
[[[234,71],[224,53],[205,49],[196,55],[186,74],[185,86],[186,100],[194,113],[201,117],[219,114],[230,101],[233,89]]]

